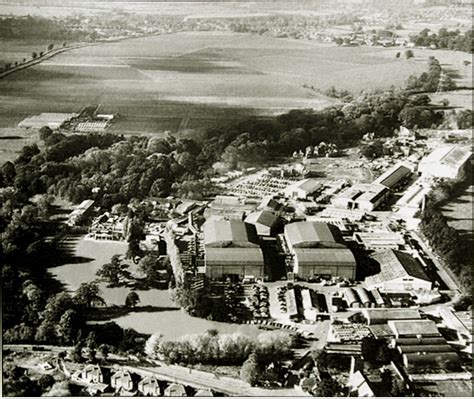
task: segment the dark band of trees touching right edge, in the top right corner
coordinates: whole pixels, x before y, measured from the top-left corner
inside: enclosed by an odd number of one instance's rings
[[[466,53],[474,52],[473,30],[462,33],[459,29],[450,31],[441,28],[438,33],[425,28],[416,35],[410,35],[410,40],[416,46],[436,46],[437,48],[465,51]]]

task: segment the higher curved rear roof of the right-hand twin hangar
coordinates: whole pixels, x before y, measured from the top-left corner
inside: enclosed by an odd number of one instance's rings
[[[315,248],[318,246],[340,247],[341,232],[331,224],[296,222],[285,226],[285,236],[293,247]]]

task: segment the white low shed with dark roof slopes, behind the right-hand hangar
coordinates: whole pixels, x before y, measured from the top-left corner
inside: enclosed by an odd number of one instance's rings
[[[334,197],[332,205],[343,209],[373,211],[387,198],[388,189],[380,184],[355,184]]]

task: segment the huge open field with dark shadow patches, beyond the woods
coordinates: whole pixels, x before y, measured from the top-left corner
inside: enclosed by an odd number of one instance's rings
[[[360,91],[400,85],[426,58],[230,32],[177,33],[72,50],[0,82],[0,127],[40,112],[98,103],[121,115],[112,131],[183,132],[245,115],[323,108],[305,86]],[[390,76],[390,79],[387,79]]]

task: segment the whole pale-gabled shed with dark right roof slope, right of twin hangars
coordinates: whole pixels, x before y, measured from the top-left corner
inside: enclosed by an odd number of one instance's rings
[[[388,249],[376,252],[372,258],[380,265],[380,272],[365,279],[369,289],[402,292],[431,289],[432,282],[422,265],[411,255]]]

